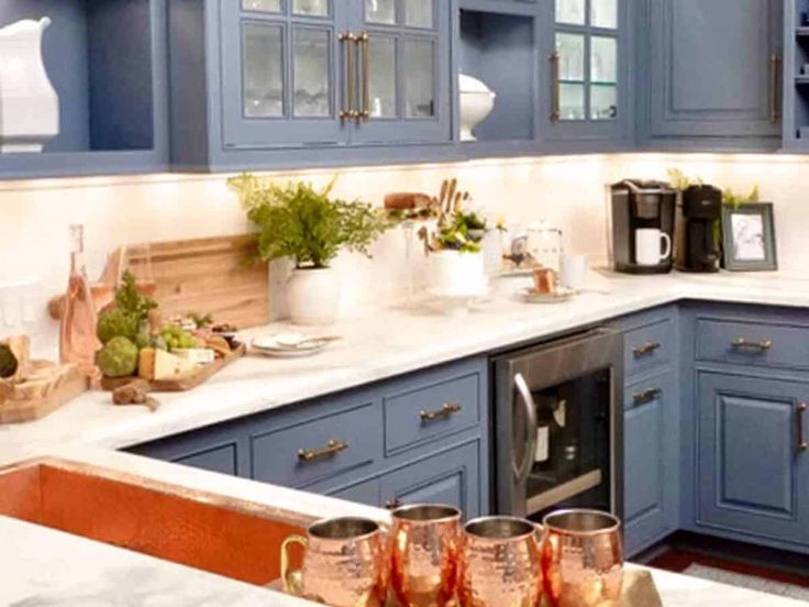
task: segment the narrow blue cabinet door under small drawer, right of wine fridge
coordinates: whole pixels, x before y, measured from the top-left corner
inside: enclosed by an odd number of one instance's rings
[[[667,372],[630,384],[624,408],[624,542],[632,555],[678,525],[676,375]]]

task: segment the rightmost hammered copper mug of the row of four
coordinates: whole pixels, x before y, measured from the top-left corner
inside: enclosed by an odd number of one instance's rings
[[[548,607],[614,607],[623,584],[621,521],[598,510],[543,520],[542,573]]]

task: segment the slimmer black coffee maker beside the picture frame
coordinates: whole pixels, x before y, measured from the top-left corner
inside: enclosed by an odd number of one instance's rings
[[[683,272],[719,272],[714,225],[722,217],[722,190],[691,186],[683,192],[677,213],[675,264]]]

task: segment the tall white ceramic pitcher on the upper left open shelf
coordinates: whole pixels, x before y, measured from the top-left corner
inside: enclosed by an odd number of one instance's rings
[[[59,99],[42,60],[45,16],[0,27],[0,153],[36,153],[59,133]]]

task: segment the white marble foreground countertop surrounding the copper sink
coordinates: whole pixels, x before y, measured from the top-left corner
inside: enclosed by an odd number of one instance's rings
[[[151,461],[93,446],[55,449],[58,457],[310,516],[366,516],[375,508]],[[0,516],[3,607],[304,607],[293,597]],[[634,567],[635,565],[629,565]],[[652,570],[665,607],[798,607],[805,603]]]

